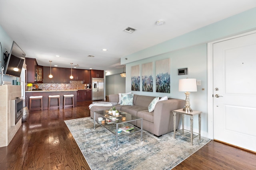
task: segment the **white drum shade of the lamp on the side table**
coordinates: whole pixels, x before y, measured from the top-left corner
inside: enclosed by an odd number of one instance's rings
[[[196,78],[180,79],[179,92],[197,92]]]

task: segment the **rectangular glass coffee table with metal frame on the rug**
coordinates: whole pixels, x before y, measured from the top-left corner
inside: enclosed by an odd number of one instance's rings
[[[134,115],[131,115],[129,113],[126,113],[124,111],[119,111],[118,116],[114,116],[110,113],[108,113],[108,110],[100,110],[100,111],[94,111],[94,129],[95,129],[95,123],[102,125],[106,129],[108,129],[111,133],[116,135],[116,150],[118,150],[118,137],[130,135],[133,133],[140,132],[140,140],[142,141],[142,130],[143,130],[143,119]],[[97,118],[96,118],[97,115]],[[98,120],[98,117],[102,117],[102,121]],[[134,125],[130,124],[129,122],[140,120],[141,128],[135,127]],[[121,131],[120,127],[131,127],[132,130],[126,132]]]

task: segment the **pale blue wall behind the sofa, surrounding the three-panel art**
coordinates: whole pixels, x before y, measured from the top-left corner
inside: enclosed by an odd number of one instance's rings
[[[155,81],[155,61],[170,58],[171,64],[171,92],[157,93],[155,82],[153,92],[136,92],[134,94],[148,96],[168,96],[170,98],[185,99],[183,92],[178,92],[178,81],[181,78],[196,78],[201,80],[198,92],[191,92],[190,104],[192,109],[203,111],[202,134],[207,136],[207,43],[256,30],[256,8],[247,10],[230,18],[218,21],[206,27],[191,31],[174,39],[170,39],[153,47],[138,51],[121,58],[121,64],[126,64],[126,92],[131,92],[131,67],[153,62],[153,76]],[[127,60],[125,59],[127,58]],[[179,68],[188,68],[188,75],[178,76]],[[142,89],[142,83],[140,83]],[[204,90],[202,90],[204,88]],[[185,126],[189,125],[186,118]],[[196,121],[197,123],[197,121]],[[198,127],[198,124],[194,128]]]

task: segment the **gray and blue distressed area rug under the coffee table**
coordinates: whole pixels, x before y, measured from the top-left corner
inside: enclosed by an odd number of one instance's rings
[[[140,132],[120,137],[116,150],[115,135],[99,124],[94,130],[90,117],[65,123],[92,170],[172,169],[211,141],[196,137],[191,146],[190,139],[180,135],[174,139],[173,132],[158,138],[143,131],[143,141]]]

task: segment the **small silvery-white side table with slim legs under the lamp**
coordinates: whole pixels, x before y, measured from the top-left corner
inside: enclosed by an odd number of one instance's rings
[[[176,113],[182,114],[182,129],[176,131]],[[193,145],[193,139],[197,136],[199,136],[199,140],[201,140],[201,113],[202,111],[196,111],[193,110],[192,112],[188,111],[183,111],[183,109],[178,109],[173,111],[173,131],[174,131],[174,139],[175,135],[181,135],[183,137],[186,137],[191,140],[191,145]],[[190,131],[184,129],[184,115],[190,115]],[[199,133],[193,132],[193,116],[198,115],[198,128],[199,128]],[[186,136],[184,134],[184,130],[190,132],[190,137]],[[180,132],[182,131],[182,133]],[[193,135],[195,134],[195,135]]]

